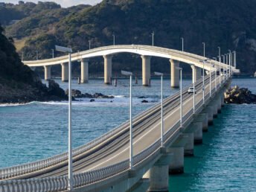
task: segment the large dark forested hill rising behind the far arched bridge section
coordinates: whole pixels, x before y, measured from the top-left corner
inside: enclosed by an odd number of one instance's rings
[[[89,40],[92,47],[112,45],[114,33],[116,44],[150,45],[154,31],[156,46],[181,49],[180,38],[184,37],[185,51],[202,55],[205,42],[210,58],[217,56],[218,46],[222,54],[235,50],[238,68],[251,75],[256,71],[255,10],[256,0],[104,0],[63,16],[50,32],[31,34],[22,51],[26,60],[36,58],[31,50],[38,50],[40,58],[48,58],[55,44],[83,51],[89,48]],[[18,29],[7,28],[7,34],[19,37],[17,33]],[[113,70],[127,68],[128,61],[129,68],[139,71],[141,59],[129,57],[115,57]],[[153,70],[170,71],[170,65],[161,62],[154,58]],[[97,72],[98,67],[102,66],[95,63],[89,70]]]

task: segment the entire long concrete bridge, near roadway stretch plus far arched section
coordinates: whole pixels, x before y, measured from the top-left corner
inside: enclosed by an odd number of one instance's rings
[[[160,103],[132,118],[134,166],[129,162],[129,121],[99,138],[73,150],[73,191],[167,191],[168,174],[182,173],[184,156],[193,155],[194,144],[202,143],[202,132],[213,124],[224,104],[224,92],[237,70],[229,63],[207,60],[195,54],[147,45],[115,45],[72,54],[88,68],[92,57],[104,57],[105,83],[111,77],[112,55],[121,52],[141,54],[144,86],[150,79],[150,57],[164,57],[171,63],[172,86],[179,86],[179,62],[193,69],[196,94],[188,87],[163,103],[163,143],[161,143]],[[30,67],[68,62],[68,57],[25,61]],[[87,63],[87,64],[86,64]],[[63,64],[63,76],[66,69]],[[207,75],[201,77],[201,68]],[[51,69],[50,69],[51,70]],[[88,70],[81,71],[88,78]],[[217,71],[225,74],[217,75]],[[85,73],[84,73],[85,72]],[[174,77],[173,77],[174,76]],[[64,78],[65,80],[65,78]],[[174,83],[173,83],[174,81]],[[0,169],[0,191],[68,191],[68,153],[48,159]]]

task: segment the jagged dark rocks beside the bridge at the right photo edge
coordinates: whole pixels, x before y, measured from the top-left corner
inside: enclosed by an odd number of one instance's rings
[[[252,94],[246,88],[239,88],[234,86],[233,89],[229,89],[228,92],[225,92],[225,103],[255,103],[256,104],[256,95]]]

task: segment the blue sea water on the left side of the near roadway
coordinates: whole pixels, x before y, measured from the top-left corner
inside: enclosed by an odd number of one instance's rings
[[[68,83],[56,80],[63,89]],[[47,83],[43,80],[43,83]],[[160,101],[160,80],[151,81],[151,87],[133,81],[133,115],[143,112]],[[183,80],[188,86],[191,79]],[[78,84],[72,80],[72,89],[83,93],[114,95],[113,99],[79,99],[72,102],[73,147],[86,144],[110,129],[129,120],[129,79],[118,79],[118,86],[105,86],[103,79],[92,79]],[[164,97],[179,89],[170,89],[170,78],[163,81]],[[141,103],[147,97],[149,103]],[[112,101],[112,102],[111,102]],[[68,102],[32,102],[25,105],[0,105],[0,167],[9,167],[45,159],[68,150]]]

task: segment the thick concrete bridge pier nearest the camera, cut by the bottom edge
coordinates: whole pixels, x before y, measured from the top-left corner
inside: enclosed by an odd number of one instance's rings
[[[169,164],[172,157],[173,154],[164,153],[153,167],[144,174],[144,178],[150,178],[148,191],[168,191]]]

